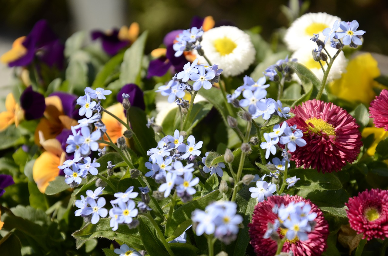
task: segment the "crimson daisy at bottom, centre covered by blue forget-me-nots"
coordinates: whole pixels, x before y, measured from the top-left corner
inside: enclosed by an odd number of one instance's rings
[[[251,245],[255,250],[256,255],[258,256],[274,256],[277,250],[277,243],[271,238],[264,238],[264,234],[268,230],[268,223],[274,224],[275,220],[278,220],[279,217],[272,211],[272,208],[275,206],[281,207],[287,205],[291,202],[298,203],[304,202],[305,204],[311,205],[310,213],[316,213],[317,217],[315,218],[316,225],[311,232],[307,233],[308,239],[305,241],[299,240],[297,237],[291,241],[286,240],[284,242],[282,251],[289,252],[293,251],[294,256],[319,256],[321,255],[326,247],[327,236],[329,236],[329,225],[323,217],[321,210],[301,196],[271,196],[268,197],[268,201],[259,202],[255,206],[252,215],[252,223],[248,224],[249,227],[249,236],[251,237]],[[282,239],[287,230],[279,228],[277,233]]]

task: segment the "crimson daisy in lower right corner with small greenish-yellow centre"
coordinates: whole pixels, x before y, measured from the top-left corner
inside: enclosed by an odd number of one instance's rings
[[[388,237],[388,191],[381,189],[365,190],[358,196],[349,198],[345,205],[350,227],[357,234],[364,234],[362,239],[385,239]]]

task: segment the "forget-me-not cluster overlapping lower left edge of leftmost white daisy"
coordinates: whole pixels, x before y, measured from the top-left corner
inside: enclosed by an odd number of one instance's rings
[[[183,67],[183,71],[175,74],[167,85],[160,86],[156,92],[168,96],[168,102],[170,103],[177,102],[178,105],[187,107],[188,104],[183,103],[185,90],[191,92],[192,90],[199,90],[201,87],[209,90],[214,83],[219,82],[222,72],[218,65],[208,66],[197,63],[198,59],[194,60],[193,63],[187,62]],[[189,84],[189,80],[194,83]]]

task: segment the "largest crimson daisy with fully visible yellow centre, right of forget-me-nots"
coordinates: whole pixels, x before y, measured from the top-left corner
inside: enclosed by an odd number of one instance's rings
[[[291,109],[295,116],[287,120],[303,132],[305,147],[290,152],[296,166],[312,167],[318,172],[340,171],[346,162],[352,163],[360,153],[361,133],[356,120],[346,110],[333,103],[303,102]]]

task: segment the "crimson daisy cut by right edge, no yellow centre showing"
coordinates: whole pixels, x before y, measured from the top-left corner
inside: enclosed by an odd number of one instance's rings
[[[380,95],[371,102],[369,114],[373,118],[374,126],[384,127],[384,130],[388,131],[388,90],[382,90]]]

